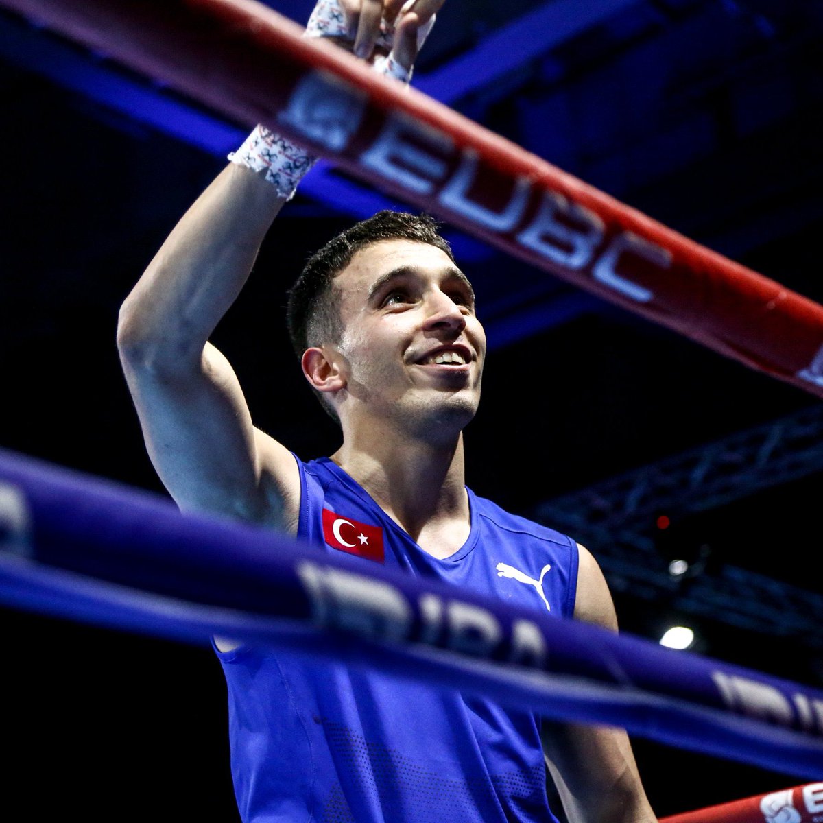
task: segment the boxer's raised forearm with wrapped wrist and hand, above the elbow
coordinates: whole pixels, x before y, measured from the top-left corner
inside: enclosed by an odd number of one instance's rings
[[[306,34],[351,40],[371,53],[374,44],[392,49],[374,56],[374,66],[408,82],[412,63],[443,0],[417,0],[413,10],[394,19],[354,14],[356,3],[319,0]],[[390,4],[399,11],[398,0]],[[374,12],[379,7],[371,3]],[[255,129],[217,177],[175,226],[120,312],[118,343],[130,365],[199,364],[216,324],[243,288],[260,244],[283,204],[295,192],[314,157],[299,146]]]

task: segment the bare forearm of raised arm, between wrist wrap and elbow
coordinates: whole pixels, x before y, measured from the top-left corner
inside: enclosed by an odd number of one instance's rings
[[[120,310],[123,356],[186,365],[249,277],[285,198],[263,177],[226,166],[174,227]]]

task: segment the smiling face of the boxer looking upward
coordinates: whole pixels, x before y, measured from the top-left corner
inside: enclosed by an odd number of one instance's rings
[[[381,241],[360,249],[335,287],[345,402],[428,437],[462,430],[480,400],[486,335],[472,286],[449,256]]]

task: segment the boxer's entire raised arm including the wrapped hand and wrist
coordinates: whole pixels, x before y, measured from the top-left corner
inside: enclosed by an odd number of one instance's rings
[[[408,81],[442,4],[319,0],[307,34],[356,47],[380,72]],[[233,160],[174,227],[123,303],[118,346],[146,448],[179,506],[294,531],[295,460],[253,427],[235,373],[208,337],[313,158],[258,127]]]

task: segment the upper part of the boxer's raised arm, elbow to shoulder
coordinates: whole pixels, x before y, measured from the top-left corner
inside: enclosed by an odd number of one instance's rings
[[[291,453],[256,430],[228,360],[151,368],[123,357],[151,462],[181,509],[283,525],[299,497]]]

